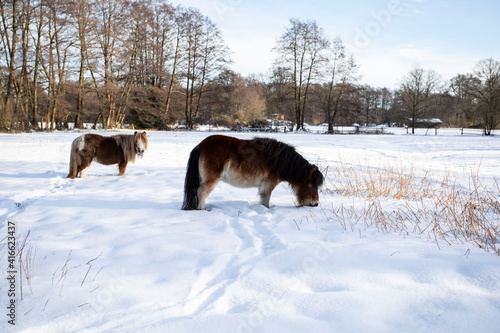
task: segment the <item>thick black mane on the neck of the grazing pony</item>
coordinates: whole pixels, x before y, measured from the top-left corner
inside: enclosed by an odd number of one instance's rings
[[[251,142],[267,158],[270,170],[292,186],[303,182],[315,168],[286,143],[269,138],[254,138]]]

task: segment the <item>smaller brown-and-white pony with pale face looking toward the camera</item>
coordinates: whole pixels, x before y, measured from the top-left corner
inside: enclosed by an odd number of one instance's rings
[[[85,176],[85,169],[92,160],[105,165],[118,164],[119,175],[123,176],[128,162],[135,162],[135,157],[142,157],[148,149],[146,132],[133,135],[101,136],[85,134],[77,137],[71,144],[68,178]]]

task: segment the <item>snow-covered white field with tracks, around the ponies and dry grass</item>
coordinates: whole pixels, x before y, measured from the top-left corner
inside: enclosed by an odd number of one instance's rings
[[[340,204],[357,209],[363,198],[324,190],[320,207],[296,208],[283,184],[266,209],[256,189],[220,183],[208,211],[181,211],[188,155],[210,134],[148,132],[149,150],[125,176],[94,163],[75,180],[65,177],[78,132],[0,134],[0,331],[498,331],[497,255],[367,221],[345,228],[329,214]],[[394,166],[438,185],[448,174],[468,187],[475,173],[500,197],[498,136],[444,129],[438,136],[267,136],[296,146],[330,175],[339,164]],[[381,204],[391,212],[411,203]],[[500,223],[498,211],[490,217]],[[15,262],[15,326],[7,316],[8,225],[25,244],[22,276]]]

